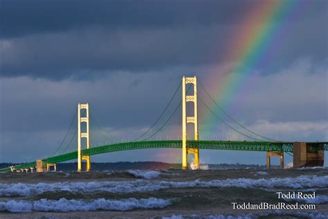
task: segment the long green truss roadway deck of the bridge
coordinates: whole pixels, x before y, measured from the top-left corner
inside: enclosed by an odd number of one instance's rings
[[[328,142],[307,142],[311,146],[310,150],[316,151],[318,146],[323,146],[328,150]],[[150,148],[182,148],[181,140],[163,141],[135,141],[124,143],[113,143],[106,146],[97,146],[82,150],[82,155],[99,155],[108,152],[122,150],[137,150]],[[210,149],[210,150],[248,150],[264,152],[293,152],[293,142],[268,142],[268,141],[188,141],[188,148]],[[57,164],[78,158],[78,152],[69,152],[64,155],[57,155],[42,159],[44,164]],[[14,166],[16,170],[35,167],[36,162],[24,163]],[[0,169],[0,172],[10,172],[10,167]]]

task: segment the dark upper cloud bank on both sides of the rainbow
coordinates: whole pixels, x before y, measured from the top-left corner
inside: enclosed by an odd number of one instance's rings
[[[1,1],[0,76],[83,80],[102,76],[104,71],[158,72],[220,64],[233,49],[231,39],[237,28],[257,4]],[[327,55],[328,30],[322,28],[327,18],[325,1],[306,6],[306,14],[295,10],[283,21],[291,23],[290,34],[274,45],[283,52],[275,57],[267,54],[280,65],[289,64],[295,56],[322,59]],[[274,68],[281,67],[275,63],[271,62]]]

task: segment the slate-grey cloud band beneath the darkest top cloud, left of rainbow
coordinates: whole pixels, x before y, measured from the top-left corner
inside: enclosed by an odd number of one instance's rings
[[[78,72],[80,78],[90,71],[158,71],[165,67],[210,64],[217,61],[211,54],[213,42],[221,38],[219,31],[212,28],[203,29],[201,33],[190,29],[89,31],[14,40],[3,49],[6,54],[2,62],[3,76],[28,74],[62,78]],[[207,40],[199,42],[203,38]],[[220,47],[225,50],[224,46]]]

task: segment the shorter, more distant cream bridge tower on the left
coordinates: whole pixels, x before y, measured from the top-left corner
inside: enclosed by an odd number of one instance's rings
[[[81,117],[81,109],[85,109],[85,117]],[[81,132],[81,124],[86,123],[86,132]],[[89,103],[78,104],[78,171],[82,170],[82,160],[86,161],[86,171],[89,171],[91,168],[90,156],[82,155],[81,153],[81,140],[82,138],[86,139],[86,148],[90,148],[90,138],[89,138]]]

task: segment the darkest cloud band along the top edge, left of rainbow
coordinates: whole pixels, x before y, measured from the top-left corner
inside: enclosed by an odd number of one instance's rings
[[[83,26],[158,28],[239,21],[255,1],[1,1],[1,38]],[[237,16],[236,16],[237,15]]]

